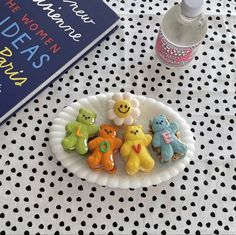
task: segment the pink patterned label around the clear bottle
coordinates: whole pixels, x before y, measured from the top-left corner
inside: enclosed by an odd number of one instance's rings
[[[157,57],[166,65],[182,66],[189,63],[199,44],[191,47],[178,47],[168,42],[161,29],[156,42]]]

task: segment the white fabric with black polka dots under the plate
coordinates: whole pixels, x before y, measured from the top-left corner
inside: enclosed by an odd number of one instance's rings
[[[206,0],[208,32],[191,64],[155,56],[173,1],[106,0],[120,28],[0,128],[0,234],[236,234],[235,1]],[[79,179],[52,155],[52,120],[82,97],[128,91],[178,111],[196,138],[177,177],[137,190]]]

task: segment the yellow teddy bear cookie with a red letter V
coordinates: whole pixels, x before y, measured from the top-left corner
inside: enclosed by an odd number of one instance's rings
[[[151,141],[152,136],[145,134],[142,126],[126,127],[120,155],[126,162],[125,171],[127,174],[134,175],[139,170],[149,172],[153,169],[155,161],[147,149]]]

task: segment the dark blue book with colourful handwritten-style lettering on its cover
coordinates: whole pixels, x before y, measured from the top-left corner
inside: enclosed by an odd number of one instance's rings
[[[0,125],[118,26],[102,0],[1,0]]]

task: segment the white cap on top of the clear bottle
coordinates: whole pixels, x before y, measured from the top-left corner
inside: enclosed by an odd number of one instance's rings
[[[189,18],[194,18],[202,13],[204,0],[182,0],[181,13]]]

